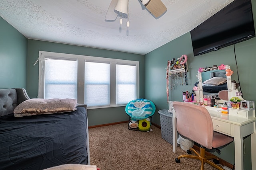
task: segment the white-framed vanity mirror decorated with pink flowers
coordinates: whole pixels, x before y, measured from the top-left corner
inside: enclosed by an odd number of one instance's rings
[[[198,90],[200,100],[204,95],[218,95],[220,100],[229,100],[232,97],[239,97],[244,100],[238,91],[238,84],[231,80],[233,71],[230,66],[221,64],[220,66],[212,66],[198,69]],[[227,96],[225,98],[225,96]]]

